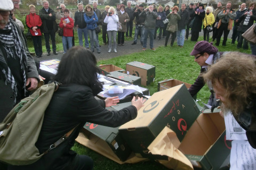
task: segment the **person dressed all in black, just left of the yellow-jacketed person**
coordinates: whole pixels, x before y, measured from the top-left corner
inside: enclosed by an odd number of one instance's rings
[[[191,41],[197,41],[199,37],[199,32],[202,30],[203,20],[205,18],[204,5],[199,4],[197,10],[195,10],[195,20],[191,27]]]

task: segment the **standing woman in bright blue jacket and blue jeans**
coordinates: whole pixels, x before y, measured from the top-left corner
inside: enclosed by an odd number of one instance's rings
[[[97,14],[93,11],[93,8],[90,5],[85,6],[84,20],[87,24],[87,31],[90,37],[91,43],[91,52],[94,52],[94,42],[97,48],[97,53],[100,54],[100,45],[97,39],[95,28],[97,28],[98,17]]]

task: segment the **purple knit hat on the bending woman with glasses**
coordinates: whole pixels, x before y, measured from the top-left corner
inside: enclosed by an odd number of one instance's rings
[[[209,43],[207,41],[198,41],[190,55],[196,55],[199,53],[215,54],[217,52],[218,48],[214,47],[212,43]]]

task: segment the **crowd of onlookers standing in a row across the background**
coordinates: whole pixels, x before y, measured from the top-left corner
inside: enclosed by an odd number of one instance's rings
[[[212,41],[216,40],[215,46],[220,45],[222,34],[224,34],[222,46],[226,46],[231,29],[233,30],[231,44],[235,44],[237,40],[237,48],[248,49],[249,43],[243,38],[242,34],[256,21],[255,2],[250,3],[249,8],[246,8],[246,4],[243,3],[237,11],[231,8],[231,2],[227,2],[226,6],[222,6],[222,2],[218,2],[215,10],[212,6],[206,6],[205,8],[202,3],[190,3],[188,6],[181,4],[180,9],[178,6],[170,7],[166,5],[163,7],[159,5],[157,7],[156,5],[149,5],[146,7],[143,4],[136,5],[133,8],[131,7],[131,1],[127,1],[127,7],[123,4],[117,4],[116,8],[112,6],[110,9],[110,6],[106,5],[103,12],[97,6],[96,1],[93,2],[92,7],[91,5],[84,7],[82,3],[78,3],[78,10],[73,15],[65,4],[60,4],[60,6],[57,6],[58,12],[55,14],[49,7],[49,2],[43,1],[43,8],[37,15],[35,6],[30,5],[30,14],[26,16],[26,25],[33,37],[36,56],[42,57],[42,33],[45,37],[47,55],[49,56],[51,52],[50,36],[53,54],[58,54],[54,36],[58,30],[58,24],[56,23],[59,23],[59,27],[64,30],[62,36],[64,53],[75,46],[74,28],[76,28],[79,45],[83,46],[84,41],[86,48],[90,48],[92,52],[96,48],[97,53],[100,54],[99,33],[95,30],[99,25],[102,29],[102,43],[108,45],[108,53],[111,53],[112,50],[117,53],[116,39],[118,46],[124,46],[125,37],[132,38],[134,26],[132,45],[137,44],[138,38],[140,38],[143,51],[147,49],[148,38],[150,49],[155,50],[154,40],[156,38],[158,40],[165,38],[164,46],[166,47],[170,36],[171,47],[174,40],[177,39],[177,46],[183,48],[189,34],[191,34],[191,41],[197,41],[199,32],[202,30],[205,41],[210,41],[210,32],[212,32]],[[15,21],[15,16],[13,17]],[[16,22],[19,24],[19,20]],[[117,28],[118,24],[120,29]],[[159,32],[158,35],[157,32]],[[110,43],[109,38],[111,39]],[[250,43],[250,46],[252,54],[255,55],[255,45]]]

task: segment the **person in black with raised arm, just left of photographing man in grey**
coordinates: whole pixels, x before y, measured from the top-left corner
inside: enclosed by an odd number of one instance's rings
[[[144,10],[143,5],[140,4],[138,8],[135,8],[135,11],[133,13],[133,18],[135,18],[135,31],[134,31],[134,38],[133,38],[132,45],[137,44],[139,33],[140,33],[140,44],[143,45],[145,18],[139,16],[143,10]]]

